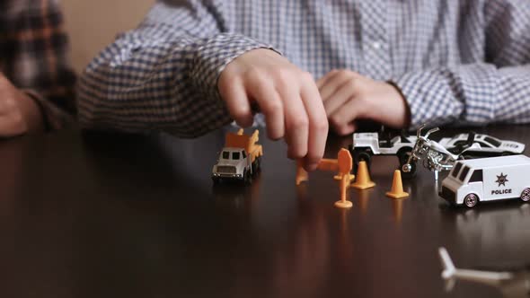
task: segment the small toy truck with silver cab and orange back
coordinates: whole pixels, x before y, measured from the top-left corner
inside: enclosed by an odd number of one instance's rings
[[[260,132],[255,130],[252,136],[244,135],[243,129],[237,134],[227,133],[225,148],[219,153],[217,163],[212,169],[214,184],[221,180],[240,180],[250,184],[252,177],[260,171],[263,149],[256,144]]]

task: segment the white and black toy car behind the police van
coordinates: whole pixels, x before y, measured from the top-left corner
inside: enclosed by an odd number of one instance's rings
[[[501,155],[521,154],[525,152],[525,145],[507,140],[499,140],[488,135],[459,134],[453,137],[444,137],[438,143],[446,147],[452,153],[462,152],[473,143],[481,145],[480,148],[467,150],[465,159],[492,157]]]

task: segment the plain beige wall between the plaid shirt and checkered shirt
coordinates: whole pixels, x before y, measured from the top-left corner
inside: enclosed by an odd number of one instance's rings
[[[72,63],[79,73],[120,31],[137,26],[155,0],[62,0]]]

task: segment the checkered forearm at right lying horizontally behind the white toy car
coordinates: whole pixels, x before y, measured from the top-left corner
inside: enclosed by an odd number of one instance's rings
[[[411,109],[411,127],[530,122],[528,66],[473,64],[393,79]]]

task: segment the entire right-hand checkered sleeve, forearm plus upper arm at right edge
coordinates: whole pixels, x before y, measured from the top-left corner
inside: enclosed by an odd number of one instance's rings
[[[530,8],[488,1],[483,64],[437,67],[393,78],[411,109],[411,128],[530,122]],[[480,33],[483,34],[483,33]]]

